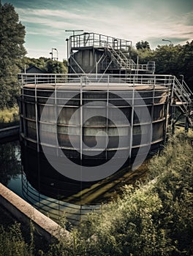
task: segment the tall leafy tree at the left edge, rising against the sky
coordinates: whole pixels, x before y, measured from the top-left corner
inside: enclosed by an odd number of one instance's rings
[[[26,54],[23,47],[26,34],[12,4],[0,2],[0,108],[10,108],[19,93],[18,68]]]

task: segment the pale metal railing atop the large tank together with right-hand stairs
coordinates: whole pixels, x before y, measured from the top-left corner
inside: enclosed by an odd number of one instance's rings
[[[119,88],[128,89],[128,86],[163,86],[169,89],[171,105],[178,105],[184,114],[192,110],[193,94],[185,82],[180,83],[174,75],[154,75],[154,74],[129,74],[129,75],[107,75],[103,74],[24,74],[18,75],[21,88],[27,84],[39,85],[41,89],[50,86],[50,89],[60,86],[68,86],[68,89],[86,89],[89,86],[91,90],[99,90],[103,86],[113,87],[118,91]],[[33,86],[29,89],[33,90]],[[36,88],[36,90],[38,90]],[[176,100],[178,99],[178,100]],[[176,103],[178,102],[178,104]],[[181,104],[179,105],[179,103]]]

